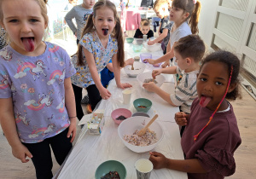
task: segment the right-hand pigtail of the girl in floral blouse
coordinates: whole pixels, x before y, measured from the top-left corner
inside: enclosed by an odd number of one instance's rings
[[[123,33],[120,25],[120,19],[116,16],[116,24],[114,27],[114,38],[117,39],[118,42],[118,53],[117,53],[117,61],[119,62],[120,67],[125,66],[125,51],[124,51],[124,39]]]

